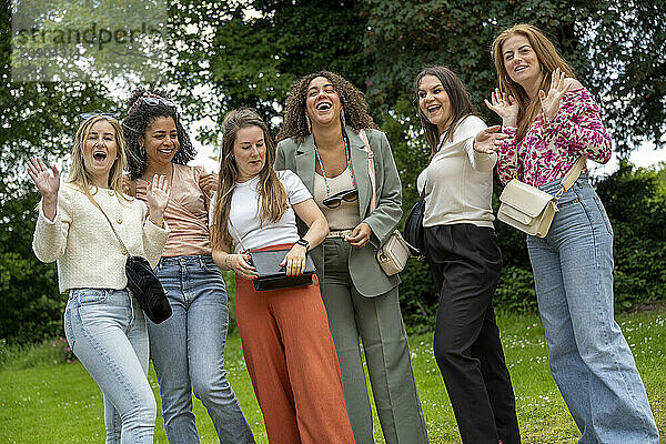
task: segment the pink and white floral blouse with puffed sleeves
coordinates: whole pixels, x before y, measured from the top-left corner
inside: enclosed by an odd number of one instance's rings
[[[610,159],[610,137],[599,119],[599,105],[585,88],[567,91],[555,118],[544,122],[542,113],[517,144],[516,131],[516,127],[502,129],[512,137],[498,150],[497,174],[502,183],[517,178],[541,186],[564,176],[578,155],[598,163]],[[583,173],[587,173],[587,168]]]

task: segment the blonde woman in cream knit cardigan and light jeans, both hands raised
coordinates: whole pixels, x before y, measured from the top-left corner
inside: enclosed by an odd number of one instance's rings
[[[107,443],[152,443],[155,400],[147,379],[145,320],[127,290],[127,256],[102,210],[129,252],[154,266],[169,236],[163,221],[169,186],[155,175],[148,206],[122,194],[124,139],[114,119],[87,119],[71,158],[62,184],[56,167],[33,158],[28,163],[42,195],[32,249],[39,260],[58,262],[60,292],[69,292],[64,332],[104,394]]]

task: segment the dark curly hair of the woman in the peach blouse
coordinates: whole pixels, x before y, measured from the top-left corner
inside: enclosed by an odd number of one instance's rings
[[[139,148],[138,135],[145,135],[150,124],[159,118],[172,118],[178,132],[178,151],[172,162],[181,165],[194,159],[196,151],[192,147],[190,134],[181,122],[180,113],[175,105],[168,105],[162,101],[158,104],[148,104],[142,98],[167,99],[171,101],[165,91],[138,89],[128,100],[128,117],[122,121],[127,133],[128,169],[132,180],[143,174],[148,164],[145,150]],[[143,152],[142,152],[143,151]]]

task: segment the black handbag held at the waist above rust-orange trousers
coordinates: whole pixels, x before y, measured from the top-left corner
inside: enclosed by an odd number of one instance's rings
[[[310,254],[305,255],[305,271],[303,274],[287,276],[285,268],[280,266],[280,263],[289,252],[289,249],[248,252],[250,263],[256,269],[256,273],[259,274],[259,278],[253,281],[254,290],[266,291],[312,285],[312,275],[315,269]]]

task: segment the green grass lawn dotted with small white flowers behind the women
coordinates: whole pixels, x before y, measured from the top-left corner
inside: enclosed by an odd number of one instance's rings
[[[543,327],[536,315],[498,316],[506,361],[517,401],[523,443],[575,443],[576,426],[559,395],[547,362]],[[618,316],[647,389],[659,432],[666,435],[666,310]],[[414,335],[412,362],[431,443],[460,443],[455,418],[437,370],[432,333]],[[32,350],[32,349],[31,349]],[[22,351],[0,370],[0,443],[102,443],[102,395],[79,363],[52,363],[31,359],[39,351]],[[42,353],[43,354],[43,353]],[[50,360],[50,361],[49,361]],[[4,360],[7,361],[7,359]],[[258,443],[266,443],[263,420],[243,363],[236,335],[226,343],[226,370]],[[154,371],[150,382],[159,403]],[[158,408],[159,410],[159,408]],[[218,443],[203,405],[195,400],[194,413],[202,443]],[[375,415],[375,437],[383,443]],[[666,436],[662,442],[666,442]],[[158,417],[155,443],[167,443],[162,417]],[[619,444],[619,443],[618,443]]]

